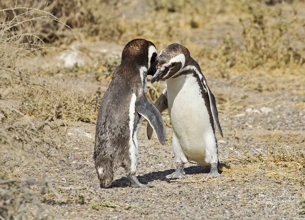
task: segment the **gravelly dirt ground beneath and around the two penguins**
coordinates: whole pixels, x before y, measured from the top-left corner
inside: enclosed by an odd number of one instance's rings
[[[278,84],[296,86],[260,92],[236,85],[234,79],[207,80],[219,103],[224,133],[224,138],[217,135],[221,179],[206,179],[208,167],[189,164],[186,179],[167,181],[164,177],[175,168],[172,130],[167,128],[162,146],[155,135],[147,140],[145,121],[138,135],[137,174],[140,182],[153,188],[130,187],[121,168],[110,188],[100,188],[93,161],[94,123],[69,123],[57,148],[30,146],[23,156],[4,148],[1,160],[15,168],[17,177],[51,180],[60,198],[51,192],[40,196],[42,219],[302,219],[305,186],[300,165],[255,161],[255,155],[268,158],[267,146],[275,152],[285,149],[284,158],[296,150],[305,153],[304,97],[297,95],[303,84],[279,78]],[[260,80],[268,83],[266,77]],[[90,75],[67,76],[59,85],[76,92],[107,88]]]

